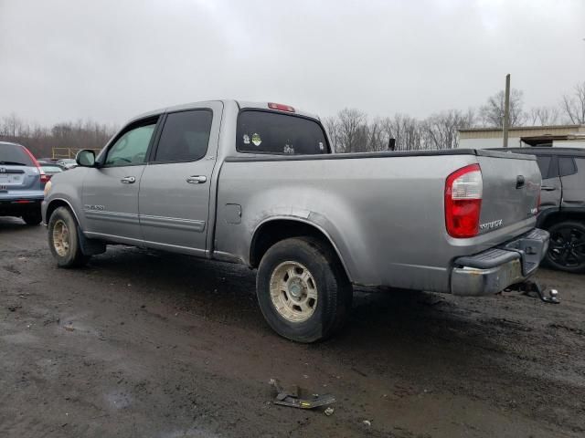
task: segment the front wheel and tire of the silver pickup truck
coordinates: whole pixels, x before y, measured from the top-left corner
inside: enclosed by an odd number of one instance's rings
[[[89,255],[81,252],[79,226],[66,207],[58,207],[48,220],[48,247],[59,267],[85,265]]]

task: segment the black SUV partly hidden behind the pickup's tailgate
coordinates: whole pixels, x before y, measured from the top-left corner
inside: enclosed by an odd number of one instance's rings
[[[585,272],[585,149],[530,147],[498,151],[537,156],[542,173],[537,227],[550,233],[548,266]]]

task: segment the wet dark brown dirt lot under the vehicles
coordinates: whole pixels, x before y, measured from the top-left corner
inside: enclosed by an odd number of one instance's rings
[[[117,246],[58,269],[45,227],[0,218],[0,436],[582,437],[585,276],[538,277],[560,305],[358,290],[306,346],[245,267]],[[334,414],[271,404],[271,378]]]

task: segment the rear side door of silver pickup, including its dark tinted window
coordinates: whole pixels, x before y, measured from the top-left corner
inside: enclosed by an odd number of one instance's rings
[[[144,241],[204,253],[221,102],[166,114],[140,185]]]

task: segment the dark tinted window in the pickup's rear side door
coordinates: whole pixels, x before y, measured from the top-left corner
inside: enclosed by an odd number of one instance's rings
[[[205,157],[212,120],[211,110],[168,114],[154,162],[195,162]]]

